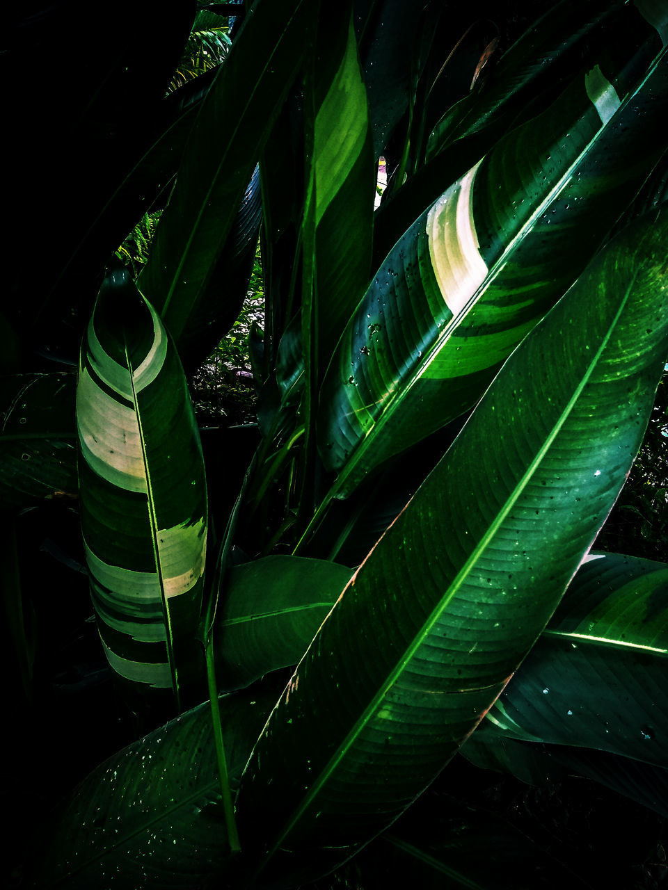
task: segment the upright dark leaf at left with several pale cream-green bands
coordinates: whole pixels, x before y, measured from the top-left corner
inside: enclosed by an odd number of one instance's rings
[[[207,541],[200,436],[175,345],[126,271],[102,285],[77,384],[81,526],[111,667],[178,687]]]

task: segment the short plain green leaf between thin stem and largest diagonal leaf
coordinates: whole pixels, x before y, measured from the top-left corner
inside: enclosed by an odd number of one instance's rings
[[[234,566],[216,619],[219,690],[296,665],[351,574],[336,562],[298,556]]]

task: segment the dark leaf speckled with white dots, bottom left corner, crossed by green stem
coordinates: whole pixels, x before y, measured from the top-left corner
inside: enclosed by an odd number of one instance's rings
[[[220,699],[230,781],[275,692]],[[228,870],[216,750],[208,703],[134,742],[91,773],[59,813],[37,886],[190,890]]]

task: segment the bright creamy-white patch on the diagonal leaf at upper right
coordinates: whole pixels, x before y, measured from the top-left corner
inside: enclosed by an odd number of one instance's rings
[[[473,220],[472,187],[482,161],[455,182],[431,207],[427,217],[429,256],[445,305],[457,315],[485,280]]]

